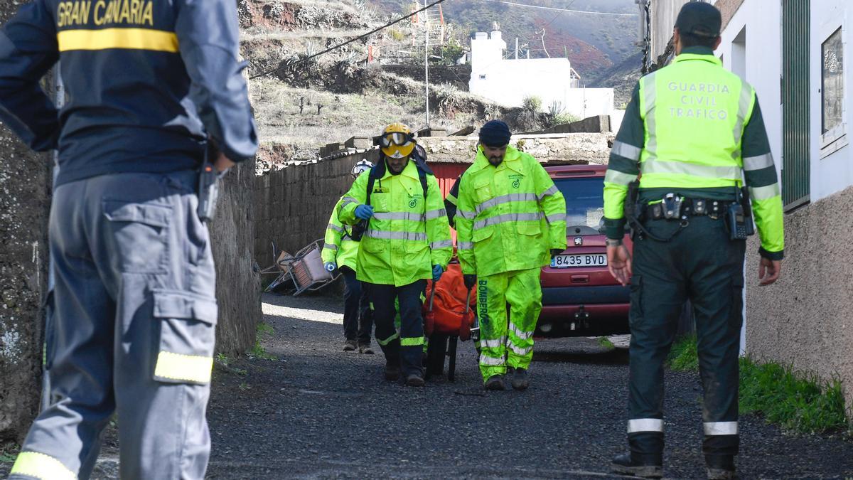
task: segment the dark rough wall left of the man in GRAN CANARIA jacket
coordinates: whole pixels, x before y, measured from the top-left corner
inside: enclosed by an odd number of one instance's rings
[[[0,23],[18,4],[0,3]],[[38,413],[51,165],[0,126],[0,441],[20,441]]]

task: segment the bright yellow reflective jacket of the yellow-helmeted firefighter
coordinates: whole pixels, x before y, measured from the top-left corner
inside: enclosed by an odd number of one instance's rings
[[[341,199],[339,220],[355,225],[356,208],[367,199],[370,172],[362,173]],[[386,168],[374,180],[374,216],[357,254],[357,278],[370,284],[408,285],[432,278],[432,266],[447,268],[453,243],[438,181],[427,175],[427,198],[414,161],[399,175]]]

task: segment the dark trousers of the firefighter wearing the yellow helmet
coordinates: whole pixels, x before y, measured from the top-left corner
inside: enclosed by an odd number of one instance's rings
[[[380,344],[386,362],[399,359],[403,375],[416,373],[423,376],[424,322],[421,315],[421,294],[427,289],[427,280],[416,280],[400,287],[386,284],[365,285],[370,289],[370,301],[374,305],[376,342]],[[397,316],[395,300],[400,307],[399,335],[394,326],[394,317]]]

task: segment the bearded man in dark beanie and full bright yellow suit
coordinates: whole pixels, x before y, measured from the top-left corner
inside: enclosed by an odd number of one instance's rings
[[[510,146],[501,120],[479,132],[477,158],[459,181],[456,246],[465,285],[477,284],[485,389],[529,385],[533,331],[542,311],[539,274],[566,249],[566,200],[539,162]],[[509,321],[507,320],[509,304]],[[508,372],[509,370],[509,372]]]

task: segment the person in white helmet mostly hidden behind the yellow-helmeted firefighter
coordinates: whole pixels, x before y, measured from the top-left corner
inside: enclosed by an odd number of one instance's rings
[[[350,174],[357,179],[373,168],[373,163],[363,160],[352,167]],[[344,277],[344,351],[358,349],[359,354],[373,354],[370,348],[370,331],[373,329],[373,313],[370,310],[368,289],[356,278],[358,241],[349,229],[338,220],[342,199],[332,209],[322,246],[323,266],[328,272],[339,270]]]

